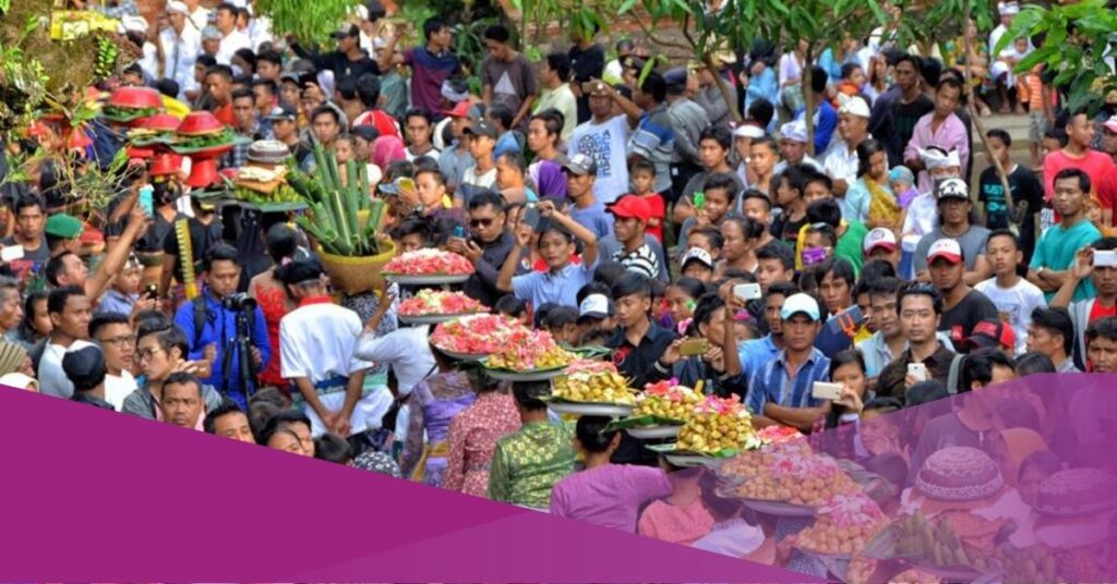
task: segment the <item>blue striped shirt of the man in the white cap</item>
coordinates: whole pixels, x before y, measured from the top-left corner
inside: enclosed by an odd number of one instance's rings
[[[795,372],[794,379],[787,377],[787,351],[781,351],[775,360],[764,364],[753,373],[748,383],[748,396],[745,405],[754,415],[764,414],[764,405],[774,403],[785,408],[815,408],[819,401],[811,398],[811,386],[817,381],[830,379],[830,358],[817,348],[811,350],[811,356]]]

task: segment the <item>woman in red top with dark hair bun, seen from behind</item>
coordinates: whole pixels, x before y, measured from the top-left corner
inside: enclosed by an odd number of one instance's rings
[[[264,320],[268,325],[268,342],[271,344],[271,357],[268,365],[260,372],[264,385],[279,387],[289,392],[287,381],[279,373],[279,320],[297,305],[287,296],[283,284],[276,279],[276,270],[295,259],[298,242],[295,230],[284,223],[276,223],[268,229],[266,246],[271,257],[273,268],[257,275],[248,285],[248,295],[256,298],[264,310]]]

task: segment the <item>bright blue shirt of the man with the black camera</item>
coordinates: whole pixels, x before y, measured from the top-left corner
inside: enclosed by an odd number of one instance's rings
[[[210,376],[201,380],[201,382],[212,385],[222,395],[231,398],[241,408],[247,409],[248,399],[246,387],[241,385],[239,374],[241,357],[239,351],[233,353],[232,360],[229,363],[229,375],[226,376],[222,371],[226,352],[233,351],[235,347],[233,342],[237,338],[237,313],[227,310],[221,306],[221,303],[210,294],[209,288],[206,288],[203,294],[206,298],[206,320],[202,324],[201,334],[197,338],[194,337],[194,303],[187,301],[179,307],[179,312],[174,315],[174,324],[187,337],[187,348],[189,350],[187,358],[189,361],[199,361],[202,358],[206,347],[214,345],[217,347],[217,357],[210,366]],[[252,346],[259,350],[260,357],[262,358],[262,363],[256,367],[256,371],[259,372],[267,366],[268,360],[271,358],[271,345],[268,343],[267,323],[264,320],[264,310],[259,306],[256,307],[255,315],[250,320],[251,331],[249,334],[252,338]]]

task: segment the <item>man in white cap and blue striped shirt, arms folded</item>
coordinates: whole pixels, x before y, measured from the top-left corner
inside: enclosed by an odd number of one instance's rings
[[[811,395],[814,382],[830,379],[830,358],[814,348],[822,326],[819,303],[806,294],[789,296],[780,308],[783,350],[758,370],[750,372],[745,405],[757,428],[787,425],[809,432],[829,402]]]

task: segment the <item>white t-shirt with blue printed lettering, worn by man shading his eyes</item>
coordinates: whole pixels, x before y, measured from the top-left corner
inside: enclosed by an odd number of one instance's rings
[[[629,174],[627,144],[631,130],[626,116],[615,116],[603,124],[589,121],[574,128],[567,149],[569,155],[581,152],[593,157],[598,164],[598,179],[593,182],[593,194],[598,201],[609,204],[628,193]]]

